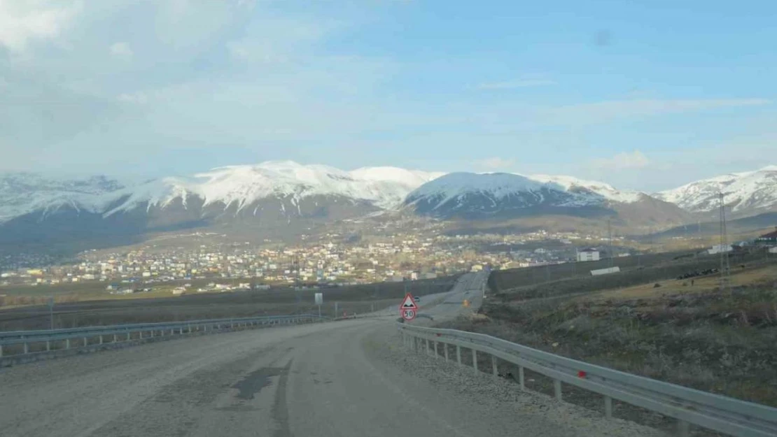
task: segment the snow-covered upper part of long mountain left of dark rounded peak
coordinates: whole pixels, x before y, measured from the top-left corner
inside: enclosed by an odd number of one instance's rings
[[[279,208],[299,210],[301,199],[337,196],[387,209],[402,203],[408,192],[442,173],[394,167],[359,168],[344,172],[326,165],[267,161],[259,165],[214,168],[191,176],[166,177],[125,184],[106,176],[87,179],[46,178],[33,173],[0,175],[0,223],[29,213],[44,218],[63,208],[110,216],[135,208],[164,209],[192,199],[202,206],[242,212],[261,199],[286,199]],[[195,201],[195,203],[197,203]]]

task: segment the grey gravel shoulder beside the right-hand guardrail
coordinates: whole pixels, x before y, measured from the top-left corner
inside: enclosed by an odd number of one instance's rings
[[[544,394],[522,392],[503,378],[495,380],[486,373],[473,375],[469,366],[458,367],[444,358],[410,352],[395,331],[372,331],[362,344],[365,354],[387,377],[405,375],[403,387],[416,387],[412,393],[420,397],[417,400],[444,414],[449,424],[464,430],[463,435],[667,435],[631,421],[605,419],[597,411]]]

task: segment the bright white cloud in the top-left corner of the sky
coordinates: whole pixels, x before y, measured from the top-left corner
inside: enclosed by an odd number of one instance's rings
[[[19,53],[25,51],[32,40],[54,39],[80,9],[79,1],[0,0],[0,46]]]

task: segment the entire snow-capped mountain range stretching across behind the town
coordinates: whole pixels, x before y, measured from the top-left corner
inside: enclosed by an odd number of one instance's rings
[[[200,227],[301,231],[385,210],[451,223],[609,217],[621,227],[655,229],[713,217],[718,192],[736,217],[777,211],[777,166],[653,194],[565,175],[343,171],[293,161],[141,182],[6,173],[0,174],[0,243],[143,238]]]

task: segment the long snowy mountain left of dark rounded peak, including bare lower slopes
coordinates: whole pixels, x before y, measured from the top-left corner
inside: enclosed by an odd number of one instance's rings
[[[0,242],[134,241],[158,231],[218,227],[302,232],[336,220],[399,206],[439,173],[268,161],[190,176],[127,183],[96,177],[0,179]]]

